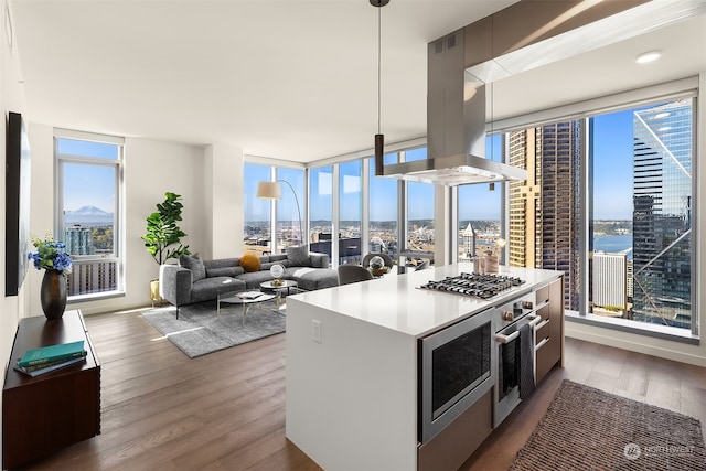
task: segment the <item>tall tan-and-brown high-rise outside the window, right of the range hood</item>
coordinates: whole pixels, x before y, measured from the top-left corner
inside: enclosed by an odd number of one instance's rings
[[[510,183],[511,266],[565,272],[566,309],[579,308],[579,151],[581,121],[510,133],[509,162],[527,169]]]

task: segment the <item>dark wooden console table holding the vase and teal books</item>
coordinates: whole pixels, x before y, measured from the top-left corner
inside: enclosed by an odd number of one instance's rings
[[[12,366],[28,349],[84,341],[85,363],[30,377]],[[2,388],[2,468],[100,433],[100,362],[81,311],[20,320]]]

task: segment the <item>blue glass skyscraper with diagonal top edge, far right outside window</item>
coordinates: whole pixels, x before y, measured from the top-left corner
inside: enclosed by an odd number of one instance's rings
[[[691,328],[692,106],[633,115],[633,317]]]

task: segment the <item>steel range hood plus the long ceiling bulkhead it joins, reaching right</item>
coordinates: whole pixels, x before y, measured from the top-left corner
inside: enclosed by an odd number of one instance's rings
[[[700,14],[706,0],[522,0],[428,44],[427,159],[376,174],[454,186],[526,180],[488,159],[486,86]],[[491,109],[492,115],[492,109]],[[491,116],[492,122],[492,116]]]

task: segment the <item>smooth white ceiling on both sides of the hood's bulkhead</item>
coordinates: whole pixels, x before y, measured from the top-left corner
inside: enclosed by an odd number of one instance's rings
[[[427,43],[514,2],[383,8],[387,143],[426,135]],[[298,162],[373,147],[378,10],[368,0],[13,0],[11,9],[31,122],[224,143]],[[634,63],[655,49],[659,62]],[[702,14],[499,81],[493,113],[515,116],[705,69]]]

